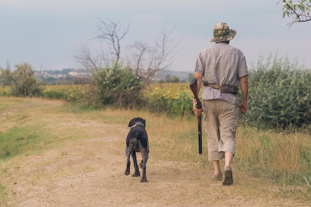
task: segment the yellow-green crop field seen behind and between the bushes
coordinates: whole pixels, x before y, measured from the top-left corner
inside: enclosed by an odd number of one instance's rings
[[[42,97],[68,102],[87,102],[89,85],[43,85]],[[0,95],[7,96],[9,87],[0,87]],[[143,89],[144,99],[152,112],[168,116],[192,115],[192,97],[188,82],[153,83]]]

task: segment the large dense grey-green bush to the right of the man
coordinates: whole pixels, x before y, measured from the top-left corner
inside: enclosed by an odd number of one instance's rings
[[[311,69],[270,56],[249,69],[247,123],[277,126],[311,126]]]

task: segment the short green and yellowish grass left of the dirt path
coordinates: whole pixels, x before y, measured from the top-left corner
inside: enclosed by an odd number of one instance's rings
[[[29,155],[79,139],[78,131],[82,129],[70,124],[73,111],[77,111],[75,106],[62,101],[2,97],[0,159]]]

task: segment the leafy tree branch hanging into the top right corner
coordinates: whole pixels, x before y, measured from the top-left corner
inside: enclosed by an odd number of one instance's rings
[[[297,0],[297,2],[283,0],[283,5],[283,18],[285,16],[292,18],[292,21],[288,23],[289,27],[297,22],[311,21],[311,0]]]

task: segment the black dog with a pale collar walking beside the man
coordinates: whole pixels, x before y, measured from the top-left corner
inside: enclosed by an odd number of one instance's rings
[[[148,135],[145,130],[146,120],[140,117],[133,118],[129,123],[130,132],[126,138],[126,150],[125,154],[127,157],[126,170],[124,172],[125,175],[130,174],[130,155],[132,155],[135,172],[132,177],[139,177],[140,172],[136,159],[136,152],[142,153],[142,161],[140,163],[140,167],[143,169],[143,176],[141,182],[148,182],[146,178],[146,163],[148,160],[149,154],[149,142]]]

